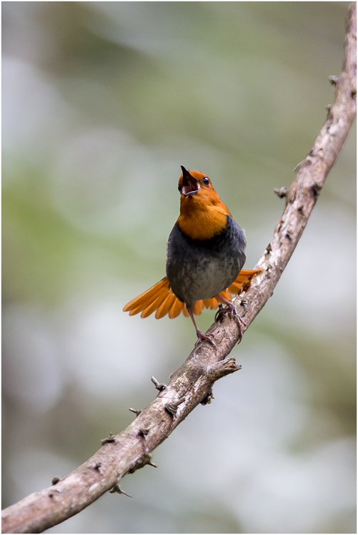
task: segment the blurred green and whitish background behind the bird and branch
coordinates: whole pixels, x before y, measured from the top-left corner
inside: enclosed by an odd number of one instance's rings
[[[156,395],[189,319],[124,304],[164,276],[179,165],[254,267],[333,101],[347,2],[4,2],[3,499],[64,477]],[[53,533],[354,533],[352,131],[237,374]],[[206,330],[212,311],[199,317]]]

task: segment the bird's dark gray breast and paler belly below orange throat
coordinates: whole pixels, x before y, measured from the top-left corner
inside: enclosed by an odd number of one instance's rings
[[[234,282],[246,260],[244,231],[231,216],[210,240],[192,240],[176,224],[168,242],[166,276],[176,297],[192,305],[210,299]]]

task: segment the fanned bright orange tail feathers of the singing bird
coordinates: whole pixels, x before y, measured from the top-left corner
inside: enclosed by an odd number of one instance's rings
[[[232,295],[236,295],[243,285],[249,285],[254,275],[261,272],[262,270],[241,270],[232,285],[220,292],[219,295],[230,300]],[[216,297],[204,301],[197,301],[194,305],[194,314],[199,316],[204,307],[214,310],[218,305],[219,301]],[[173,317],[179,316],[180,312],[183,312],[184,316],[189,317],[187,305],[179,301],[174,295],[171,291],[169,280],[166,277],[159,280],[159,282],[149,288],[149,290],[146,290],[146,292],[141,293],[138,297],[134,297],[134,299],[127,302],[123,310],[124,312],[129,312],[130,316],[141,312],[141,317],[148,317],[152,312],[156,311],[155,317],[157,320],[166,314],[172,319]]]

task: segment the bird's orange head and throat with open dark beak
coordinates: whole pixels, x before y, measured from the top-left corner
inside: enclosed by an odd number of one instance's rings
[[[201,171],[182,167],[178,189],[180,230],[193,240],[209,240],[222,233],[227,225],[229,209],[214,190],[212,180]]]

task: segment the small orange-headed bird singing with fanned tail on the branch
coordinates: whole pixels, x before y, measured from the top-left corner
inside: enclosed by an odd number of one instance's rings
[[[181,168],[180,215],[169,235],[166,277],[129,301],[123,310],[130,316],[141,312],[141,317],[156,311],[158,320],[183,312],[192,318],[197,344],[207,340],[216,347],[213,335],[198,329],[194,314],[201,314],[204,307],[227,305],[220,308],[215,320],[233,317],[241,340],[242,325],[246,324],[230,302],[231,294],[237,294],[262,270],[242,270],[246,260],[244,230],[219,198],[210,178],[201,171]]]

